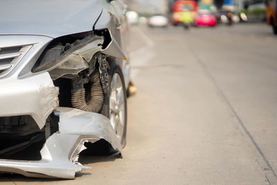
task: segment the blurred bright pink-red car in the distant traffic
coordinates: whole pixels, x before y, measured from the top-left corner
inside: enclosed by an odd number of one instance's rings
[[[195,17],[195,26],[215,26],[217,21],[209,10],[199,10]]]

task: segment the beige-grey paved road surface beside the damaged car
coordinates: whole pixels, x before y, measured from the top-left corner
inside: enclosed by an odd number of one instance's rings
[[[264,24],[132,28],[123,158],[74,180],[4,184],[277,184],[277,37]],[[43,181],[43,182],[42,182]]]

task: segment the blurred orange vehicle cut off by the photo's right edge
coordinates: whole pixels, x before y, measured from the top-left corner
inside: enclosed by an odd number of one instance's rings
[[[277,1],[269,2],[266,13],[267,24],[272,26],[274,34],[277,34]]]

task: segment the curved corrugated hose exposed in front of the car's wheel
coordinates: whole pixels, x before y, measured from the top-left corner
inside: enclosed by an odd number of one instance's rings
[[[87,112],[99,112],[102,108],[104,95],[100,84],[99,72],[95,73],[90,80],[90,100],[86,102],[85,89],[71,90],[71,104],[76,109]]]

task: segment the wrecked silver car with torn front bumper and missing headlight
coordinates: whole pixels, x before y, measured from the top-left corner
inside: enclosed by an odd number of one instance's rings
[[[121,152],[125,12],[120,0],[1,1],[0,172],[73,179],[92,143]]]

